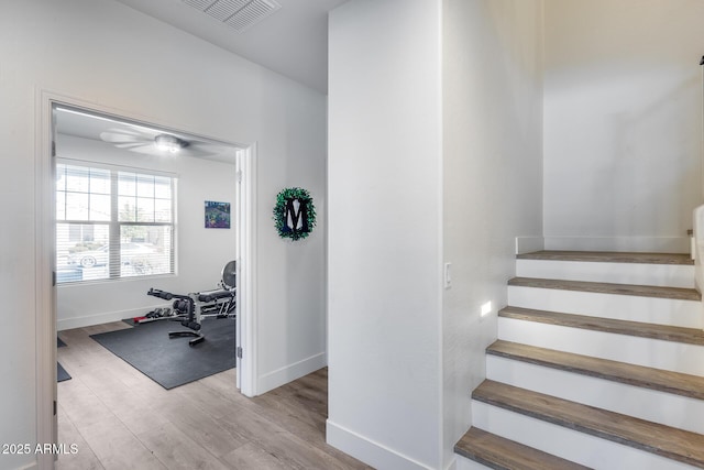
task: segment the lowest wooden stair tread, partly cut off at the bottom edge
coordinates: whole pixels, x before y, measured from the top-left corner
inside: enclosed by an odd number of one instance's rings
[[[454,451],[493,469],[580,470],[588,467],[564,460],[514,440],[471,427]]]

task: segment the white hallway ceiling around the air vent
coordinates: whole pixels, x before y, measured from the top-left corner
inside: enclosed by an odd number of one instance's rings
[[[242,32],[182,0],[117,1],[327,95],[328,12],[348,0],[276,0]]]

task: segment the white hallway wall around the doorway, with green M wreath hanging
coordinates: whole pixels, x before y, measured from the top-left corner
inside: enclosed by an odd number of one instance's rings
[[[13,358],[0,361],[0,442],[33,442],[37,431],[34,282],[42,260],[35,258],[34,208],[41,91],[219,140],[256,142],[260,392],[290,376],[292,365],[300,372],[301,363],[311,368],[324,360],[324,97],[111,0],[3,4],[0,207],[21,230],[0,231],[0,295],[8,313],[0,316],[0,354]],[[319,208],[320,226],[302,244],[280,241],[273,227],[275,196],[287,186],[307,187]],[[2,456],[0,468],[34,460]]]

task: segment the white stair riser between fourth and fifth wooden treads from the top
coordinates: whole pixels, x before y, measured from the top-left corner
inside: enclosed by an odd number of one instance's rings
[[[516,361],[486,357],[486,378],[546,395],[704,434],[704,401]]]

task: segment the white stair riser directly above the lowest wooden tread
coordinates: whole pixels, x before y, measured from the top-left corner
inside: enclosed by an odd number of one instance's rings
[[[691,470],[694,468],[475,400],[472,401],[472,423],[488,433],[596,470]]]

